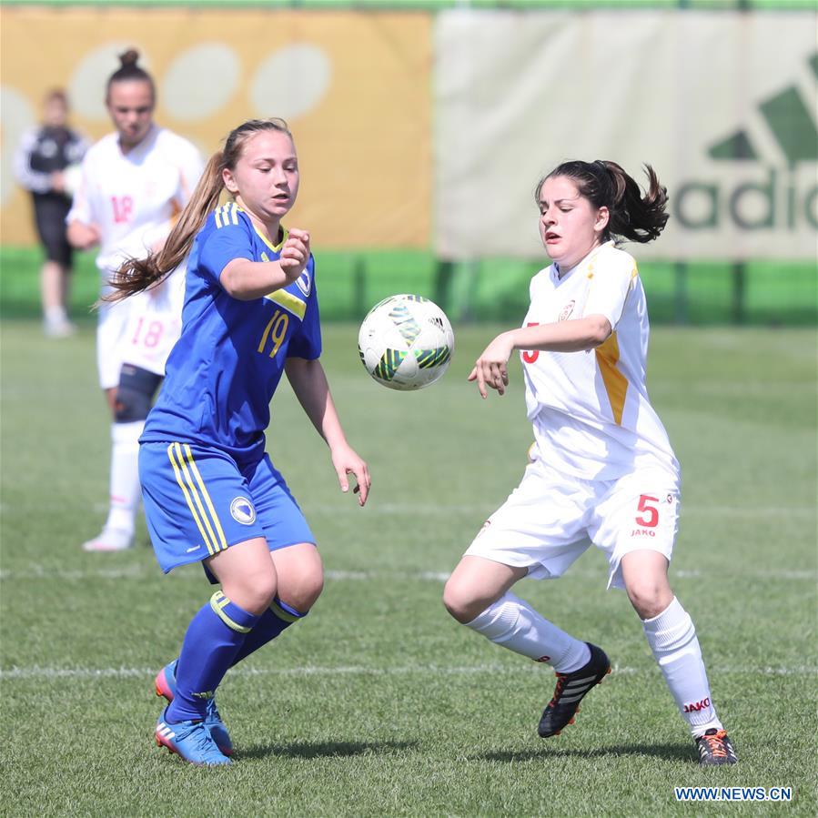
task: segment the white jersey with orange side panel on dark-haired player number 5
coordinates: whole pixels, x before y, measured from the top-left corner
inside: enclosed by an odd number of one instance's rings
[[[531,279],[526,326],[601,315],[611,337],[582,352],[522,352],[526,408],[540,457],[584,480],[661,470],[679,462],[645,384],[648,311],[634,259],[612,241],[560,278],[556,264]]]

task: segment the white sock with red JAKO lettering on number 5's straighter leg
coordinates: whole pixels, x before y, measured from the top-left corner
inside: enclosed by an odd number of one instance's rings
[[[696,629],[681,602],[673,597],[671,604],[659,616],[642,620],[642,626],[676,706],[690,726],[693,737],[703,735],[711,727],[722,730],[722,722],[712,705]]]

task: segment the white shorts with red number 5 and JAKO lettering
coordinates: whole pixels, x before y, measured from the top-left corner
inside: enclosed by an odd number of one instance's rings
[[[624,588],[620,562],[630,551],[659,551],[671,560],[679,502],[676,475],[661,468],[618,480],[580,480],[537,457],[466,555],[528,568],[530,578],[548,580],[592,544],[608,558],[608,587]]]

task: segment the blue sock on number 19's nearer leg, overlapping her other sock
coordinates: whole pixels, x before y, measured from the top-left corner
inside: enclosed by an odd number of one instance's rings
[[[167,706],[171,723],[203,719],[207,700],[259,617],[216,591],[190,621],[177,665],[177,692]]]

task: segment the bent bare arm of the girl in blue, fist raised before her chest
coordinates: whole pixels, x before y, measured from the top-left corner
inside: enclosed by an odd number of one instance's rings
[[[218,279],[228,295],[239,301],[251,301],[292,284],[307,267],[308,260],[308,232],[292,229],[276,261],[233,258]]]

